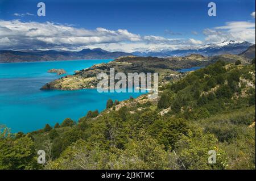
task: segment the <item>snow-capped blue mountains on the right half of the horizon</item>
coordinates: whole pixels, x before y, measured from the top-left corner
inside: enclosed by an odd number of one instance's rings
[[[249,48],[251,43],[247,41],[223,41],[218,44],[205,44],[193,49],[159,50],[146,52],[133,52],[136,56],[170,57],[187,56],[189,54],[201,54],[203,56],[216,56],[220,54],[240,54]]]

